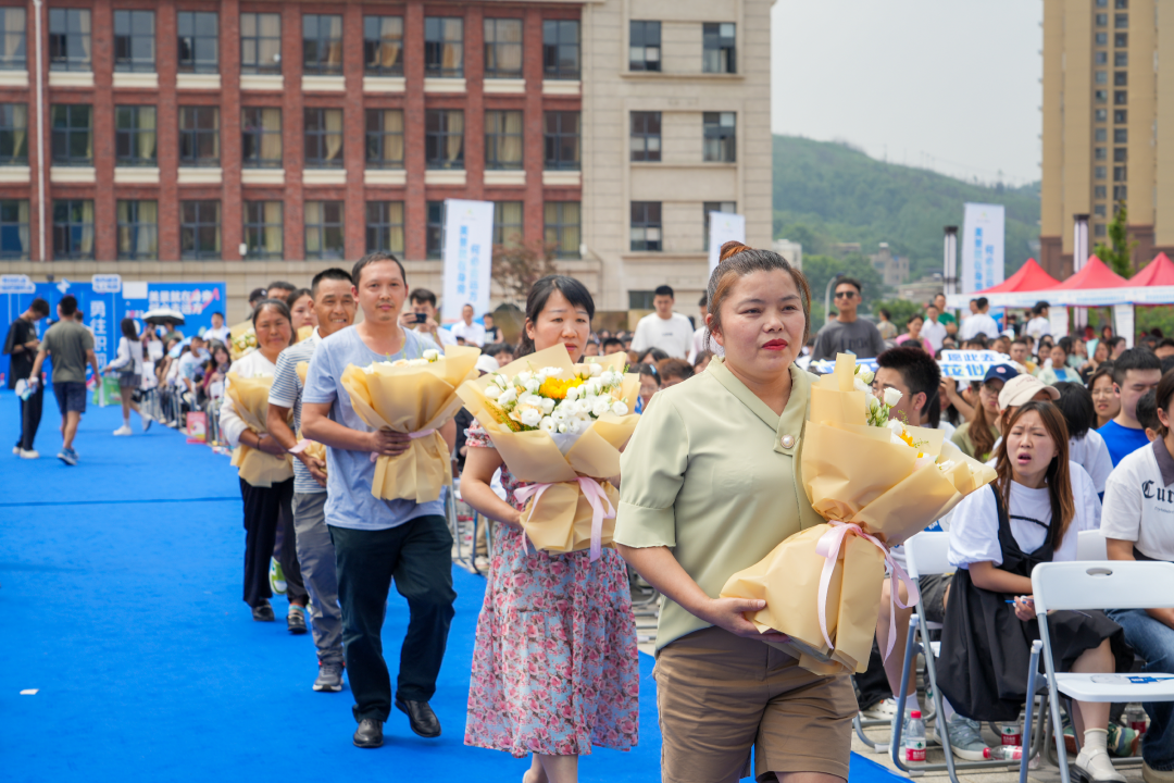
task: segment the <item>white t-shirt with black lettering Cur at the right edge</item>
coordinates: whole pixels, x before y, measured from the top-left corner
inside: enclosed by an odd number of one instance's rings
[[[1174,561],[1174,460],[1162,440],[1125,457],[1108,477],[1101,533],[1133,541],[1147,558]]]

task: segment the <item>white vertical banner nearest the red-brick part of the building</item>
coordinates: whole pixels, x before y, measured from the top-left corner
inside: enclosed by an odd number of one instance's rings
[[[490,311],[490,272],[493,264],[493,202],[445,198],[444,202],[445,324],[460,320],[460,310],[473,305],[473,316]]]

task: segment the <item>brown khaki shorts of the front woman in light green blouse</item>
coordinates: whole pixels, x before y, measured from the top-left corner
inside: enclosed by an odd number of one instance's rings
[[[822,677],[785,653],[706,628],[656,654],[664,783],[733,783],[772,772],[848,779],[856,695],[848,674]]]

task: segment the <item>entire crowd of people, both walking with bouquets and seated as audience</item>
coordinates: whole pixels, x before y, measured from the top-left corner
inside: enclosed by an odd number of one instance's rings
[[[140,335],[128,319],[108,367],[97,366],[72,297],[62,298],[59,322],[38,340],[35,324],[48,305],[36,299],[5,345],[9,382],[32,390],[22,396],[14,453],[33,451],[47,358],[62,414],[59,457],[69,465],[77,463],[73,438],[87,363],[95,377],[117,372],[126,390],[115,434],[133,432],[135,393],[151,379],[181,407],[212,413],[218,439],[241,467],[242,598],[251,617],[275,621],[271,600],[284,593],[288,632],[312,632],[312,689],[338,693],[345,676],[358,724],[351,741],[376,748],[393,707],[417,735],[441,733],[430,701],[453,619],[453,540],[444,498],[372,494],[375,457],[404,453],[411,437],[363,421],[343,385],[345,369],[420,358],[447,344],[480,347],[483,373],[558,345],[573,362],[627,352],[629,371],[640,377],[641,420],[622,457],[622,482],[615,481],[616,548],[598,559],[527,546],[515,494],[526,485],[485,430],[467,413],[438,430],[457,463],[464,502],[494,524],[465,742],[529,757],[527,783],[575,781],[579,757],[593,747],[634,747],[640,679],[629,583],[639,574],[662,595],[663,779],[754,774],[835,783],[848,778],[851,721],[862,708],[909,720],[891,697],[902,682],[900,646],[888,660],[875,654],[855,683],[849,675],[812,674],[762,643],[784,640],[747,620],[763,601],[718,594],[733,573],[821,521],[801,488],[814,382],[804,369],[841,352],[875,358],[875,392],[900,392],[892,416],[946,431],[998,477],[935,524],[949,532],[954,571],[920,585],[923,610],[944,626],[938,686],[947,714],[939,729],[960,757],[981,758],[980,722],[1016,720],[1030,697],[1026,661],[1039,637],[1031,568],[1075,559],[1077,534],[1086,529],[1104,533],[1111,559],[1174,561],[1174,342],[1146,336],[1129,349],[1108,328],[1099,337],[1053,335],[1046,303],[1021,325],[1011,313],[1000,325],[976,299],[959,322],[940,295],[900,332],[888,317],[878,326],[859,315],[858,282],[839,278],[835,289],[836,318],[812,333],[802,272],[771,251],[728,243],[699,320],[675,311],[666,285],[633,332],[594,331],[586,286],[549,276],[534,284],[521,333],[510,343],[492,315],[477,319],[472,305],[443,326],[436,295],[411,289],[400,262],[377,252],[351,270],[321,271],[309,288],[276,282],[255,291],[256,347],[236,359],[217,313],[212,329],[190,337],[174,328]],[[1006,358],[981,380],[958,385],[937,360],[951,347]],[[258,423],[238,392],[264,378],[271,385]],[[150,426],[149,413],[139,416]],[[715,492],[718,486],[727,491]],[[382,644],[385,614],[399,610],[389,607],[392,585],[410,617],[394,686]],[[882,600],[878,649],[889,641],[889,606]],[[896,612],[896,627],[908,627],[911,609]],[[1136,654],[1156,671],[1174,657],[1168,609],[1065,612],[1048,622],[1062,670],[1129,670]],[[908,696],[908,710],[919,709],[916,689]],[[1111,756],[1140,747],[1147,783],[1174,781],[1172,707],[1143,707],[1149,728],[1139,738],[1111,706],[1074,706],[1068,731],[1073,747],[1079,740],[1084,779],[1124,781]]]

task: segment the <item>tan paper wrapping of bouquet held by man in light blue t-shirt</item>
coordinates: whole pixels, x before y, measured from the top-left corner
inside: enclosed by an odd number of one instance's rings
[[[480,349],[446,345],[431,364],[392,367],[376,364],[367,373],[353,364],[343,371],[343,389],[369,427],[418,433],[439,430],[460,410],[457,387],[477,377]],[[382,500],[432,502],[452,482],[448,444],[439,432],[414,438],[407,451],[382,455],[375,464],[371,494]]]

